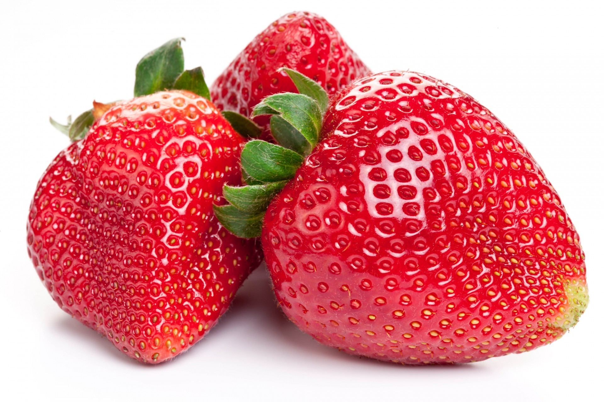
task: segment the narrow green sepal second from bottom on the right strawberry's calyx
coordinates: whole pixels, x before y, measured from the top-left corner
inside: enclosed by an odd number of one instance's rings
[[[288,181],[260,184],[259,186],[233,187],[225,184],[222,196],[242,212],[251,214],[264,212],[271,199],[283,189]]]

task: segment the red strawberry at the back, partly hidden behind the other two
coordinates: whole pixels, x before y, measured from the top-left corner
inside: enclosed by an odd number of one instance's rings
[[[249,116],[262,98],[279,92],[297,92],[282,67],[300,71],[335,95],[369,69],[326,19],[307,11],[280,17],[252,40],[220,74],[211,87],[211,99],[220,110]],[[254,119],[269,138],[266,116]]]

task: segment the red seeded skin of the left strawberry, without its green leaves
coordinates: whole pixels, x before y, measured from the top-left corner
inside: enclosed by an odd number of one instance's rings
[[[260,262],[212,212],[240,183],[239,136],[185,91],[118,102],[40,179],[28,251],[65,312],[159,363],[216,323]]]

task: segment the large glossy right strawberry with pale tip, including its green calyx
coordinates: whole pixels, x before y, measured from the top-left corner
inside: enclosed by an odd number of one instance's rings
[[[489,110],[415,72],[356,81],[324,115],[320,88],[300,92],[257,105],[298,130],[286,148],[248,142],[255,185],[226,186],[232,205],[214,209],[238,236],[262,231],[278,303],[301,330],[420,364],[532,350],[576,324],[588,302],[579,236]],[[306,158],[301,138],[316,145]]]

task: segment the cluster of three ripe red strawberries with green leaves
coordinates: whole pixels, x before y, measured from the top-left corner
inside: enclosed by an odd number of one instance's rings
[[[28,221],[54,300],[134,359],[201,339],[262,251],[292,321],[381,360],[522,352],[585,309],[579,238],[512,132],[432,77],[370,75],[316,14],[275,21],[211,90],[165,43],[135,96],[52,121],[74,142]]]

